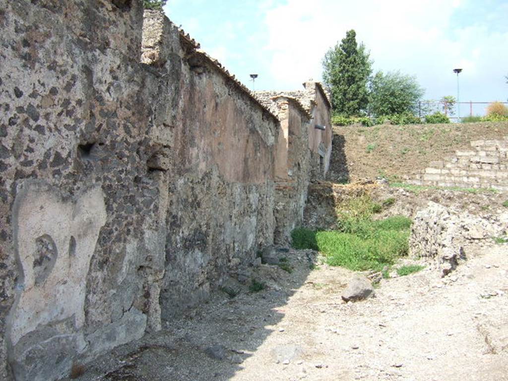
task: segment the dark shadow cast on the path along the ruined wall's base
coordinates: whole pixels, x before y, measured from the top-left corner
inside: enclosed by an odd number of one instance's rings
[[[254,270],[253,278],[265,284],[264,290],[252,292],[249,284],[243,285],[234,298],[217,291],[201,307],[165,322],[162,331],[117,347],[87,364],[85,372],[74,379],[231,379],[284,318],[284,306],[305,283],[314,267],[315,256],[312,250],[288,252],[282,267],[289,265],[291,273],[279,266],[261,265]],[[273,364],[297,355],[290,353],[295,346],[291,342],[286,344],[272,354]]]

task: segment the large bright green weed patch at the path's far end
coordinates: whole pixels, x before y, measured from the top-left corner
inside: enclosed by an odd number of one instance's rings
[[[370,197],[352,199],[337,210],[336,231],[296,229],[292,232],[293,247],[321,251],[326,263],[354,271],[381,271],[395,263],[409,250],[411,220],[393,216],[372,220]]]

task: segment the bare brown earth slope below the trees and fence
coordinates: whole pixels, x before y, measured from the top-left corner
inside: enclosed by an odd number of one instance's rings
[[[508,122],[352,125],[334,127],[333,134],[330,181],[376,176],[403,180],[430,162],[470,149],[471,141],[503,139],[508,136]]]

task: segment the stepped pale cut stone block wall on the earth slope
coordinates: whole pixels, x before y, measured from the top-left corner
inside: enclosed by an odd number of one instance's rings
[[[477,140],[471,150],[431,163],[422,174],[408,180],[415,185],[508,190],[508,137]]]

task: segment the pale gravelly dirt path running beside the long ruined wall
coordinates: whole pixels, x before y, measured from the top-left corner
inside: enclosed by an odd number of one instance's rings
[[[452,276],[382,280],[376,297],[342,302],[351,272],[262,265],[268,287],[228,299],[113,351],[79,379],[508,380],[508,247],[490,246]]]

